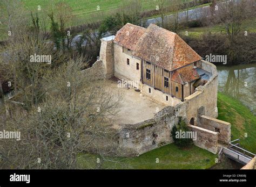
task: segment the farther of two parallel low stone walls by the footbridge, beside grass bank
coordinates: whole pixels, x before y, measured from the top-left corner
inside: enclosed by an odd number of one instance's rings
[[[217,132],[219,130],[218,140],[223,143],[231,141],[231,124],[226,121],[211,118],[208,116],[201,116],[199,126],[207,130]]]

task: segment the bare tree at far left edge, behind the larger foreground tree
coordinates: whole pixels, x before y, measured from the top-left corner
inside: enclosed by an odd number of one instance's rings
[[[44,34],[30,32],[28,26],[20,27],[17,33],[4,48],[6,55],[0,57],[0,71],[3,81],[8,81],[15,93],[19,93],[19,101],[29,110],[44,96],[42,75],[48,71],[48,67],[65,62],[66,55],[57,53]],[[39,61],[33,58],[37,55]],[[44,60],[49,57],[50,61],[41,61],[41,56]]]

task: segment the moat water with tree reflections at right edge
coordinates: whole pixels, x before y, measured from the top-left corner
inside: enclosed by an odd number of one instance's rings
[[[239,99],[256,115],[256,64],[218,66],[218,90]]]

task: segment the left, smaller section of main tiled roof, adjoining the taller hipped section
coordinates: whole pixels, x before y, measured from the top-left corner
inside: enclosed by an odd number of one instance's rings
[[[127,23],[117,32],[114,42],[134,51],[136,43],[145,31],[146,28]]]

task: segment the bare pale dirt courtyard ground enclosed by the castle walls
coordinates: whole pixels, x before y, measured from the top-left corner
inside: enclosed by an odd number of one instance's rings
[[[106,90],[111,90],[113,94],[122,93],[123,99],[120,104],[120,111],[112,120],[113,128],[119,129],[124,124],[136,124],[154,117],[158,111],[163,109],[164,104],[154,102],[134,88],[118,87],[118,80],[103,80]],[[120,84],[119,84],[120,85]]]

